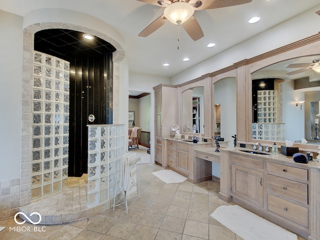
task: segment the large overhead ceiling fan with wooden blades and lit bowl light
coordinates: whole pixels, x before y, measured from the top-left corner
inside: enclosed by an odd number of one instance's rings
[[[194,10],[204,10],[212,8],[220,8],[233,6],[251,2],[252,0],[138,0],[148,4],[165,7],[163,14],[152,21],[145,27],[138,36],[148,36],[166,20],[172,23],[182,25],[188,35],[194,40],[198,40],[203,36],[203,31],[194,18]]]

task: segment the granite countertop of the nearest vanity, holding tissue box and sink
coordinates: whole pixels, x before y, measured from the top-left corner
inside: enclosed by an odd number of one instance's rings
[[[211,147],[213,148],[213,147]],[[200,148],[201,149],[201,148]],[[214,149],[214,148],[213,148]],[[240,150],[252,150],[249,148],[244,148],[244,147],[224,147],[224,148],[220,148],[220,151],[231,151],[233,153],[237,153],[237,154],[242,154],[242,155],[246,155],[246,156],[251,156],[251,157],[259,157],[259,158],[264,158],[264,159],[272,159],[272,160],[277,160],[283,163],[293,163],[299,166],[303,166],[303,167],[312,167],[312,168],[317,168],[320,169],[320,163],[316,161],[315,158],[313,158],[313,161],[308,161],[307,163],[299,163],[299,162],[295,162],[292,158],[292,156],[284,156],[282,154],[272,154],[271,152],[268,152],[268,155],[264,155],[264,154],[252,154],[249,152],[243,152]],[[214,151],[214,150],[213,150]]]

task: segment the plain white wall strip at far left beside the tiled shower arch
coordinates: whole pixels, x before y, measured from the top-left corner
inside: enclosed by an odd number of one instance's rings
[[[0,32],[0,181],[2,181],[20,177],[22,17],[0,10]]]

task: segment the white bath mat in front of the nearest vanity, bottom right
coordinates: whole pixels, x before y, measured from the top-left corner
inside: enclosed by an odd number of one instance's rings
[[[297,240],[297,236],[238,205],[217,207],[211,215],[244,240]]]

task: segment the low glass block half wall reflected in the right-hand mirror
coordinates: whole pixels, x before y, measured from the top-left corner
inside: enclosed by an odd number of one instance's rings
[[[285,123],[252,123],[252,139],[285,141]]]

